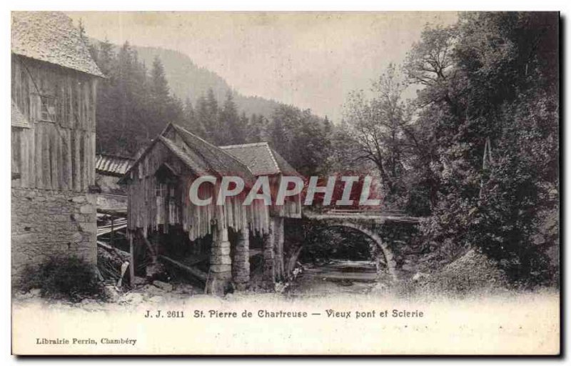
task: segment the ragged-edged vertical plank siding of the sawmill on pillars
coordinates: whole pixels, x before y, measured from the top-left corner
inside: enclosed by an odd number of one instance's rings
[[[177,144],[184,144],[181,139],[173,138]],[[163,163],[176,170],[178,184],[174,202],[165,202],[156,196],[158,180],[155,172]],[[201,184],[198,196],[213,197],[212,204],[196,206],[190,202],[188,190],[193,175],[190,169],[175,157],[161,142],[153,145],[151,150],[133,167],[128,183],[128,228],[141,228],[143,234],[157,230],[158,225],[181,224],[192,241],[211,234],[213,222],[231,227],[237,231],[250,227],[259,234],[268,233],[270,227],[270,207],[266,207],[261,199],[256,199],[251,206],[243,206],[246,194],[226,199],[223,206],[216,205],[218,186]],[[219,184],[219,182],[218,182]],[[169,213],[171,211],[171,213]]]

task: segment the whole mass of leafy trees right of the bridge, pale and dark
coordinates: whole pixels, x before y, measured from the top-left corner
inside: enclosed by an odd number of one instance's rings
[[[349,131],[380,170],[387,202],[428,219],[423,232],[450,259],[477,247],[512,279],[550,276],[538,239],[557,216],[557,15],[463,14],[427,27],[400,79],[390,66],[373,99],[353,95]]]

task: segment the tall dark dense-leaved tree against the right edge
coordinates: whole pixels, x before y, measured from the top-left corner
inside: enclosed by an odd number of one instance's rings
[[[557,207],[557,84],[546,69],[552,60],[537,53],[557,38],[549,17],[463,15],[449,74],[427,84],[430,104],[418,117],[438,142],[440,187],[426,237],[450,257],[479,248],[512,280],[532,283],[547,277],[534,239],[540,213]]]

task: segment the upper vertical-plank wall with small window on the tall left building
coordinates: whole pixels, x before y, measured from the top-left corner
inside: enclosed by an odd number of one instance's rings
[[[86,192],[95,183],[96,78],[14,54],[11,78],[12,100],[31,126],[12,127],[20,173],[12,186]],[[55,98],[52,122],[41,121],[41,94]]]

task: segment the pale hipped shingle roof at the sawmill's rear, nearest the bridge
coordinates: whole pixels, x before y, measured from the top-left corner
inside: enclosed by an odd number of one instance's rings
[[[273,174],[300,176],[267,142],[222,146],[220,148],[246,164],[256,176]]]

